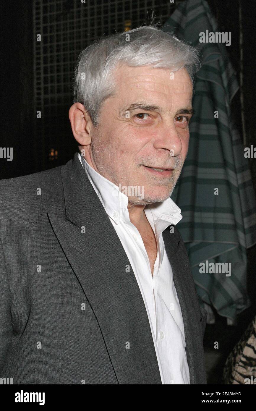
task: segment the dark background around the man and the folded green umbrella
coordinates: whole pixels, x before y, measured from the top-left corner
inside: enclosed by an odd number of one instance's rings
[[[72,81],[76,58],[102,35],[123,32],[148,23],[163,25],[180,1],[81,0],[2,1],[1,17],[1,137],[0,147],[13,147],[13,161],[0,159],[0,178],[12,178],[65,164],[74,155],[68,110],[73,103]],[[240,82],[239,0],[208,0],[219,31],[231,32],[226,47]],[[246,146],[256,146],[255,129],[255,0],[241,1],[244,56],[244,119]],[[42,42],[36,41],[37,34]],[[242,138],[240,91],[232,111]],[[42,118],[37,119],[37,111]],[[256,159],[248,159],[256,188]],[[207,325],[208,383],[220,383],[228,353],[256,313],[256,247],[248,250],[248,289],[252,306],[235,326],[216,314]],[[212,350],[218,341],[220,349]]]

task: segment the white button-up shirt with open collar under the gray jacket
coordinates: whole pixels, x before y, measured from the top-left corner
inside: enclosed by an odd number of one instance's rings
[[[141,235],[130,222],[128,197],[117,185],[92,169],[79,152],[78,158],[134,271],[148,314],[162,384],[189,384],[182,313],[162,237],[164,229],[182,218],[180,209],[171,198],[144,208],[157,239],[157,258],[152,275]]]

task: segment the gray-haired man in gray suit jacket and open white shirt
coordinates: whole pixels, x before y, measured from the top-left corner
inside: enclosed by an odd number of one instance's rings
[[[69,110],[79,152],[1,182],[1,377],[206,383],[206,316],[170,199],[197,64],[155,26],[79,56]]]

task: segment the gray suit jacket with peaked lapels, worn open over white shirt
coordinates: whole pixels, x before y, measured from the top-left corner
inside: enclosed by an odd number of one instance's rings
[[[167,228],[163,238],[184,321],[190,383],[205,384],[206,312],[178,230]],[[1,378],[14,384],[161,384],[134,272],[125,271],[125,250],[77,153],[65,166],[0,181],[0,240]]]

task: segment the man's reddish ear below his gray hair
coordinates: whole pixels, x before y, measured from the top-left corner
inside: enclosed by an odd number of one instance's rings
[[[69,120],[73,135],[79,145],[85,146],[91,143],[92,120],[83,104],[74,103],[69,109]]]

